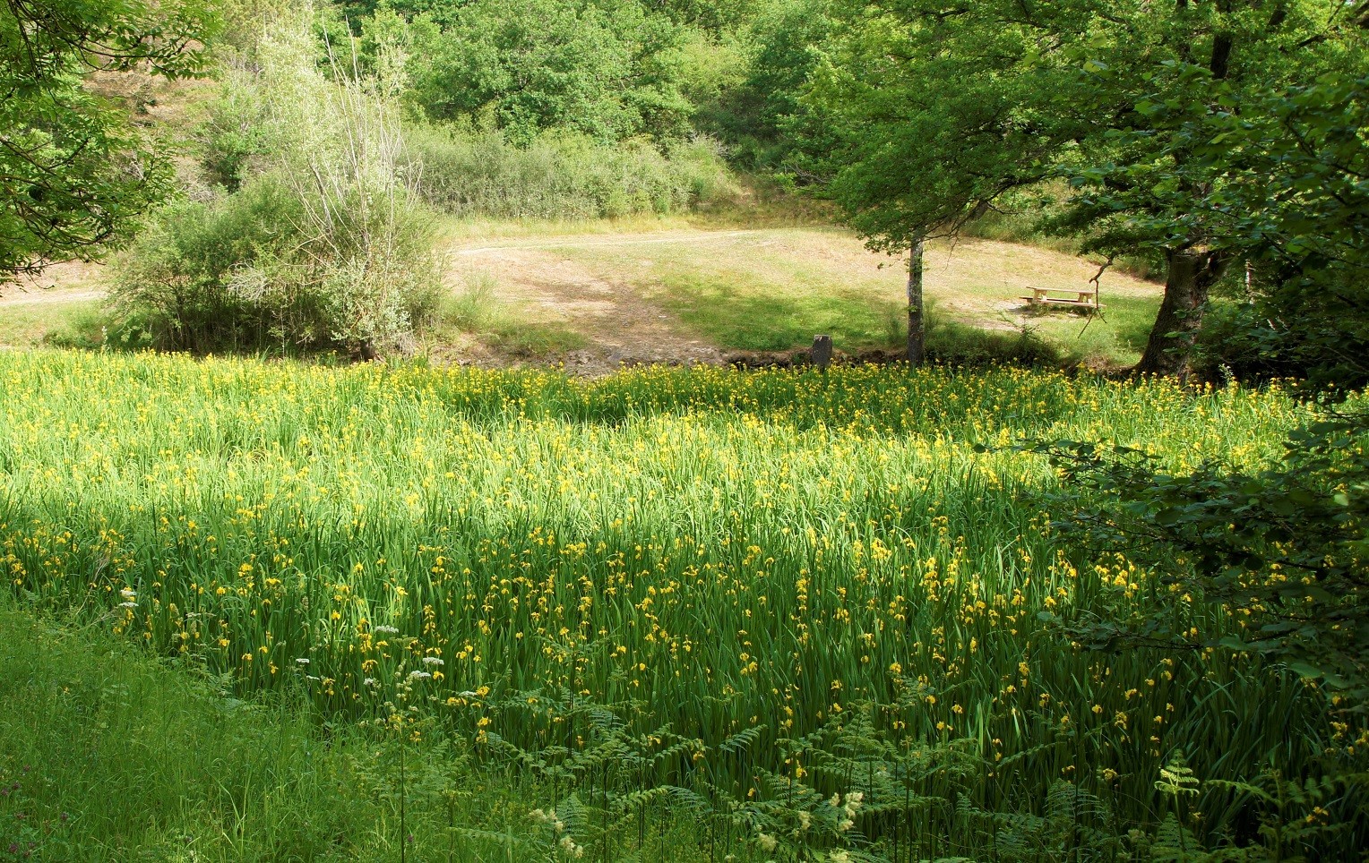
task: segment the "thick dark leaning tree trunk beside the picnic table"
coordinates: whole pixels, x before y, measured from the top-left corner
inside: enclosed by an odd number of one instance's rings
[[[1227,268],[1218,252],[1166,252],[1165,298],[1146,342],[1146,353],[1134,369],[1138,375],[1188,376],[1194,341],[1202,327],[1207,291]]]

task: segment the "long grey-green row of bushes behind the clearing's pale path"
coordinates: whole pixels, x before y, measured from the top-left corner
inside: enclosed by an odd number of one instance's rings
[[[402,160],[418,178],[419,194],[459,216],[665,215],[727,200],[737,190],[709,138],[658,149],[646,141],[611,146],[559,133],[516,146],[500,131],[423,127],[405,144]]]

